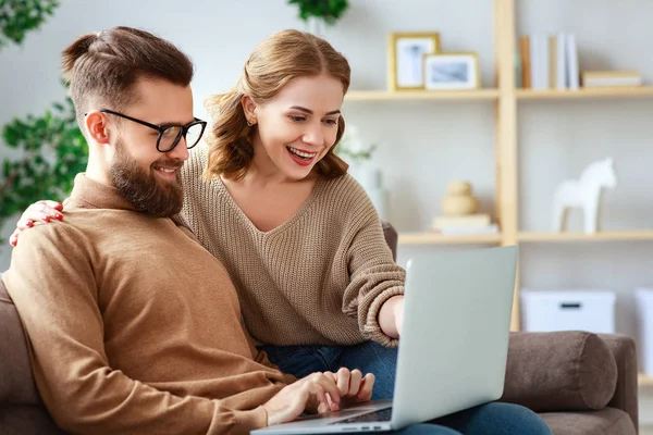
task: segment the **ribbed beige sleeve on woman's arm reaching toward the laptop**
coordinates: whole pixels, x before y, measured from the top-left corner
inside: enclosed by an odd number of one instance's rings
[[[353,221],[348,248],[349,284],[343,298],[343,310],[357,316],[362,335],[383,346],[396,347],[398,339],[383,333],[379,312],[385,301],[404,294],[406,272],[395,263],[385,241],[381,220],[371,201],[361,195],[360,207]]]

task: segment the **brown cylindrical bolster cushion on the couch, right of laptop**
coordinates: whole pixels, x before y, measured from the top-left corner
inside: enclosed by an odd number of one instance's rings
[[[600,410],[616,384],[615,359],[595,334],[510,334],[502,401],[537,412]]]

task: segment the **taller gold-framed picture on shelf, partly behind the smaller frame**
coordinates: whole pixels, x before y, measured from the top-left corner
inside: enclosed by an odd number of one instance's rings
[[[440,52],[438,33],[394,33],[389,39],[389,82],[392,90],[424,88],[424,54]]]

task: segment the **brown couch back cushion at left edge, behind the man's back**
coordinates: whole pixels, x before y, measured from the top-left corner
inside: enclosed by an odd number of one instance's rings
[[[0,407],[41,403],[27,353],[23,325],[0,274]]]

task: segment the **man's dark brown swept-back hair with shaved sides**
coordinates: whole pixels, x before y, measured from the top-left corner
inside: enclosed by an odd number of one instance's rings
[[[120,111],[136,102],[138,79],[163,79],[188,86],[193,63],[171,42],[132,27],[81,36],[63,50],[63,75],[70,84],[77,123],[90,104]],[[84,130],[84,128],[82,128]]]

